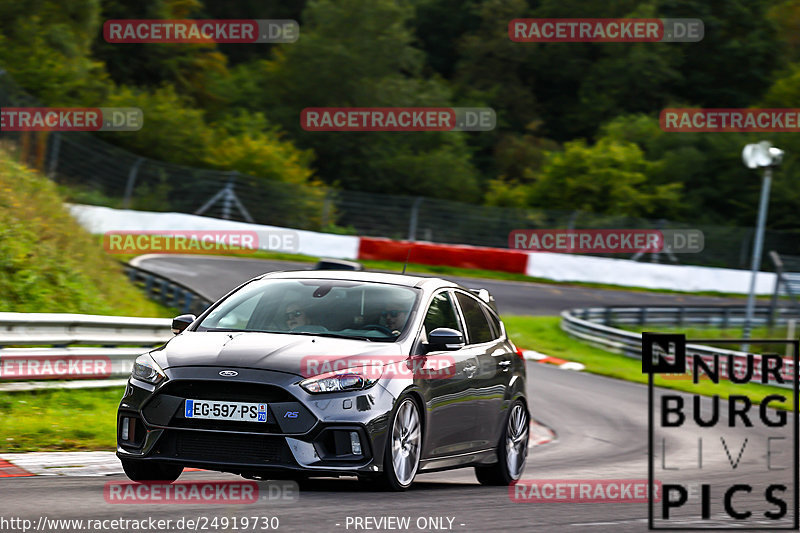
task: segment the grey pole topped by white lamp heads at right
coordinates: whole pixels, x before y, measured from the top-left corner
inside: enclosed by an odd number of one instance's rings
[[[742,150],[742,160],[747,168],[764,169],[764,179],[761,182],[761,200],[758,204],[758,222],[756,224],[756,236],[753,244],[753,261],[750,273],[750,291],[747,293],[747,311],[744,319],[744,329],[742,338],[750,338],[750,329],[753,323],[753,311],[756,305],[756,277],[761,266],[761,250],[764,246],[764,226],[767,221],[767,204],[769,202],[769,188],[772,184],[772,167],[776,167],[783,161],[783,150],[775,148],[769,141],[761,141],[758,144],[748,144]],[[750,345],[742,344],[742,351],[746,352]]]

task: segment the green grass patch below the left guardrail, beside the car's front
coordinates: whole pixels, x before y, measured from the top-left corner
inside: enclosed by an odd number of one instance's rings
[[[116,449],[124,387],[0,394],[0,452]]]

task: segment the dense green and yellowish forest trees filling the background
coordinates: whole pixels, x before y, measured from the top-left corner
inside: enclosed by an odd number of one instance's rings
[[[515,18],[587,13],[699,18],[705,35],[552,44],[507,35]],[[275,45],[119,45],[102,38],[111,18],[293,18],[301,36]],[[243,185],[273,202],[248,209],[298,227],[336,222],[320,215],[323,184],[749,226],[760,180],[739,154],[762,136],[664,133],[657,117],[678,106],[795,107],[798,21],[800,0],[0,0],[0,68],[46,105],[141,107],[141,131],[104,139],[152,159],[252,176]],[[300,126],[306,107],[347,106],[488,106],[498,123],[483,133]],[[800,141],[768,137],[787,151],[768,224],[800,227]],[[177,205],[175,183],[142,180],[139,205]],[[291,198],[293,209],[276,209]]]

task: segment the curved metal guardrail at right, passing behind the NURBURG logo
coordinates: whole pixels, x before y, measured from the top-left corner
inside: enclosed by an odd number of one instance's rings
[[[756,308],[756,323],[769,322],[769,308]],[[698,325],[707,324],[717,327],[739,325],[744,321],[744,306],[719,307],[592,307],[572,309],[561,313],[561,329],[567,334],[604,350],[642,358],[642,335],[631,331],[617,329],[608,324],[650,324],[650,325]],[[796,311],[780,309],[777,321],[798,318]],[[602,323],[600,323],[602,322]],[[687,352],[696,353],[706,359],[714,356],[733,358],[734,365],[743,361],[745,352],[714,348],[698,344],[688,344]],[[791,380],[794,376],[794,362],[784,359],[784,377]],[[775,384],[791,387],[790,383]]]

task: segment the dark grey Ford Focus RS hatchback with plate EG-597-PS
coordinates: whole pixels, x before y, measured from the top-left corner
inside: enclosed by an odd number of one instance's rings
[[[136,359],[117,418],[134,481],[184,467],[257,479],[358,476],[390,490],[474,467],[520,478],[525,362],[493,300],[436,278],[276,272]]]

